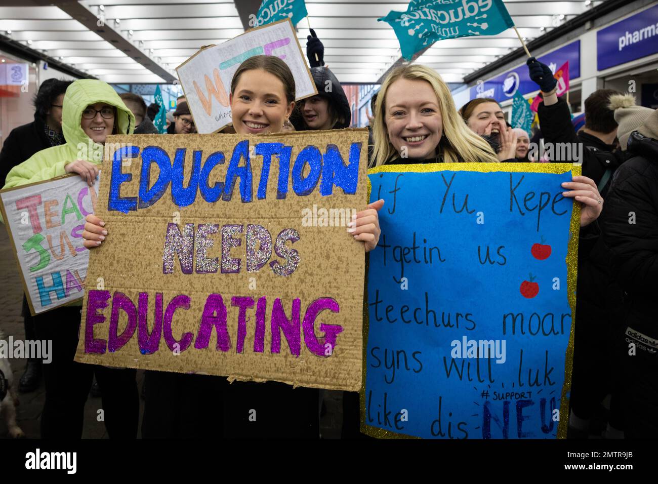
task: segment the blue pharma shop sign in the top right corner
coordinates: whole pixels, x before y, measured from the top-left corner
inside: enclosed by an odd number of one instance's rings
[[[604,70],[658,52],[658,5],[596,32],[596,68]]]

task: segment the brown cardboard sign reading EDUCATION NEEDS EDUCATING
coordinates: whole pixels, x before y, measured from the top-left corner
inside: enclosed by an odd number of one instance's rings
[[[367,130],[111,142],[76,361],[361,387]]]

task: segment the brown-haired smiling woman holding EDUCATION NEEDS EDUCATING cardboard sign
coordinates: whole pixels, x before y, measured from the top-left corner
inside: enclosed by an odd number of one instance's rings
[[[230,105],[233,126],[238,134],[261,134],[281,132],[284,122],[290,117],[295,100],[295,83],[290,68],[271,56],[256,56],[244,61],[231,82]],[[377,209],[383,202],[372,203],[367,210],[357,213],[351,226],[355,240],[365,243],[365,250],[372,250],[379,238]],[[83,237],[85,246],[101,245],[108,236],[105,224],[89,215]],[[184,429],[193,427],[194,415],[170,412],[169,408],[180,406],[174,402],[172,390],[180,388],[176,379],[204,377],[207,385],[220,388],[221,400],[211,398],[211,390],[197,388],[184,398],[200,410],[200,417],[207,421],[211,409],[217,414],[219,402],[224,404],[224,435],[228,437],[307,437],[318,438],[318,390],[293,389],[282,383],[236,382],[225,385],[226,379],[206,375],[176,375],[173,373],[148,372],[149,383],[143,419],[144,437],[166,437],[176,435],[190,437]],[[170,382],[174,381],[171,385]],[[180,381],[178,382],[180,383]],[[222,388],[223,387],[223,388]],[[250,417],[254,416],[255,419]],[[190,429],[199,435],[208,435],[207,425]],[[166,435],[165,435],[166,434]]]

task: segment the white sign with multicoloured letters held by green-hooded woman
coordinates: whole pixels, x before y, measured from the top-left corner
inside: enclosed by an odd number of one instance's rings
[[[82,230],[97,187],[68,175],[0,192],[32,315],[82,299],[89,261]]]

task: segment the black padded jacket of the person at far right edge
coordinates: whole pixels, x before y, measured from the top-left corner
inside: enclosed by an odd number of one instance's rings
[[[628,155],[605,200],[602,239],[611,273],[625,293],[626,323],[658,338],[658,140],[633,133]]]

